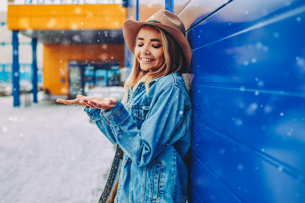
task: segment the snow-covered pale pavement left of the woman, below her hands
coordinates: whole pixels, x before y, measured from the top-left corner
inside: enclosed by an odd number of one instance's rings
[[[0,202],[97,203],[113,145],[83,107],[38,96],[28,107],[0,97]]]

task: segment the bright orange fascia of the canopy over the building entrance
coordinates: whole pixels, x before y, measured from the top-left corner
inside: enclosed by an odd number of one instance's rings
[[[10,30],[122,29],[125,19],[121,4],[8,5],[7,11]]]

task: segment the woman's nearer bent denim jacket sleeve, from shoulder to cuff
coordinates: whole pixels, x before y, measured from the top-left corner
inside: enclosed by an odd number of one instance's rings
[[[115,111],[104,112],[114,132],[117,143],[124,153],[138,166],[145,166],[163,149],[172,145],[189,132],[191,107],[186,104],[185,95],[176,86],[169,86],[154,95],[147,119],[141,129],[129,115],[122,103]]]

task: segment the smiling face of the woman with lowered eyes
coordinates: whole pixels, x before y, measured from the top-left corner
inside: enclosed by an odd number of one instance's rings
[[[158,31],[152,26],[143,26],[136,39],[135,56],[143,71],[160,68],[164,62],[164,51]]]

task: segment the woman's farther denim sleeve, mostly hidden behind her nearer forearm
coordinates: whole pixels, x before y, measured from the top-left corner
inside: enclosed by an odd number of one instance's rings
[[[102,119],[101,110],[96,108],[86,107],[84,111],[88,114],[88,116],[95,122],[99,130],[106,136],[106,138],[114,145],[116,145],[117,140],[114,137],[112,128],[109,124]]]

